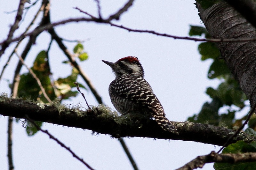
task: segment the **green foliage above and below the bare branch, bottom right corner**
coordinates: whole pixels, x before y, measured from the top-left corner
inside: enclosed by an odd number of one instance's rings
[[[255,134],[256,132],[254,131],[253,133]],[[244,141],[237,141],[235,144],[228,145],[222,151],[222,153],[245,153],[245,152],[256,152],[256,142],[251,142],[251,144],[248,144]],[[216,170],[254,169],[256,167],[256,162],[242,162],[242,163],[235,163],[235,164],[214,163],[213,167]]]

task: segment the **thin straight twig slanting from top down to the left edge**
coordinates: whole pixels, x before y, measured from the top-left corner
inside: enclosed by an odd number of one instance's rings
[[[35,23],[35,20],[36,20],[36,18],[38,17],[39,13],[40,13],[43,9],[44,9],[44,4],[41,5],[41,7],[40,7],[39,10],[37,11],[36,15],[34,16],[33,20],[30,22],[30,24],[28,25],[28,27],[26,28],[26,30],[25,30],[22,34],[25,34],[25,33],[28,32],[28,30],[30,29],[30,27]],[[18,43],[16,44],[15,48],[12,50],[11,55],[9,55],[8,60],[7,60],[7,62],[5,63],[5,65],[4,65],[4,67],[3,67],[2,71],[1,71],[1,74],[0,74],[0,81],[1,81],[2,76],[3,76],[3,74],[4,74],[5,68],[6,68],[6,67],[9,65],[9,63],[10,63],[10,60],[11,60],[11,58],[12,58],[12,55],[14,54],[15,50],[17,51],[17,49],[18,49],[20,43],[22,42],[22,40],[23,40],[24,38],[25,38],[25,37],[21,38],[20,41],[18,41]]]

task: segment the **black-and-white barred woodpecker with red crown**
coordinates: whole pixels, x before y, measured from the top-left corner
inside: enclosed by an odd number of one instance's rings
[[[116,78],[108,88],[112,104],[122,115],[154,117],[165,131],[179,134],[177,128],[165,116],[164,108],[144,79],[143,67],[135,56],[127,56],[108,64]]]

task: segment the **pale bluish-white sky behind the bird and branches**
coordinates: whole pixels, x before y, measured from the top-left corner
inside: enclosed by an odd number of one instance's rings
[[[126,1],[102,0],[103,17],[108,17],[116,12]],[[20,26],[22,31],[33,18],[40,3],[41,1],[28,11],[26,20]],[[159,33],[188,36],[190,24],[202,25],[193,3],[195,2],[188,0],[154,2],[137,0],[115,23],[133,29],[147,29]],[[18,4],[18,0],[13,0],[5,1],[0,6],[0,41],[7,37],[9,26],[13,23],[16,15],[16,13],[6,14],[4,12],[15,10]],[[52,22],[84,16],[73,7],[79,7],[97,16],[97,6],[93,0],[52,1]],[[34,27],[38,25],[40,19],[36,21]],[[108,85],[114,80],[114,75],[110,67],[101,60],[115,62],[128,55],[137,56],[143,65],[146,80],[152,86],[164,107],[167,118],[171,121],[186,121],[189,116],[198,113],[203,103],[210,101],[205,94],[206,87],[216,87],[218,84],[218,80],[207,79],[207,71],[212,61],[200,61],[197,51],[198,42],[173,40],[148,33],[132,33],[105,24],[86,22],[70,23],[55,29],[65,39],[89,39],[83,43],[85,51],[89,54],[89,59],[79,63],[92,80],[104,103],[112,108],[114,107],[109,99]],[[15,32],[15,36],[19,35],[21,30]],[[49,41],[48,33],[40,34],[36,45],[32,47],[25,60],[30,67],[40,50],[48,47]],[[20,46],[19,53],[22,52],[26,42],[27,39]],[[70,51],[76,45],[76,43],[64,43]],[[14,46],[13,43],[1,57],[1,69]],[[67,60],[66,56],[54,42],[50,51],[50,63],[55,79],[70,74],[71,67],[62,64],[65,60]],[[6,80],[12,82],[13,70],[17,61],[18,59],[14,55],[5,71],[4,79],[0,81],[0,92],[10,93]],[[27,72],[26,68],[22,69],[22,73],[24,72]],[[83,80],[79,78],[78,82],[83,83]],[[85,85],[85,83],[83,84]],[[84,91],[89,104],[97,104],[91,92],[81,90]],[[73,105],[81,103],[85,107],[85,102],[80,95],[64,102]],[[0,169],[8,169],[7,120],[8,117],[0,116]],[[109,135],[93,136],[90,130],[62,127],[49,123],[44,123],[42,128],[47,129],[70,147],[94,169],[132,169],[118,140],[112,139]],[[218,146],[215,148],[210,144],[178,140],[154,140],[140,137],[125,138],[124,140],[140,170],[179,168],[195,159],[196,156],[219,149]],[[33,137],[28,137],[21,123],[16,122],[13,127],[13,160],[15,170],[87,169],[68,151],[49,139],[46,134],[38,132]],[[212,165],[204,166],[203,170],[213,169]]]

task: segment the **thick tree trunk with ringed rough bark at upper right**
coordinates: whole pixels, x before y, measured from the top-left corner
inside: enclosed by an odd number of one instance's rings
[[[196,4],[200,18],[213,38],[251,38],[256,29],[239,12],[221,1],[208,9]],[[255,105],[256,94],[256,42],[217,43],[222,57],[238,80],[243,92]]]

